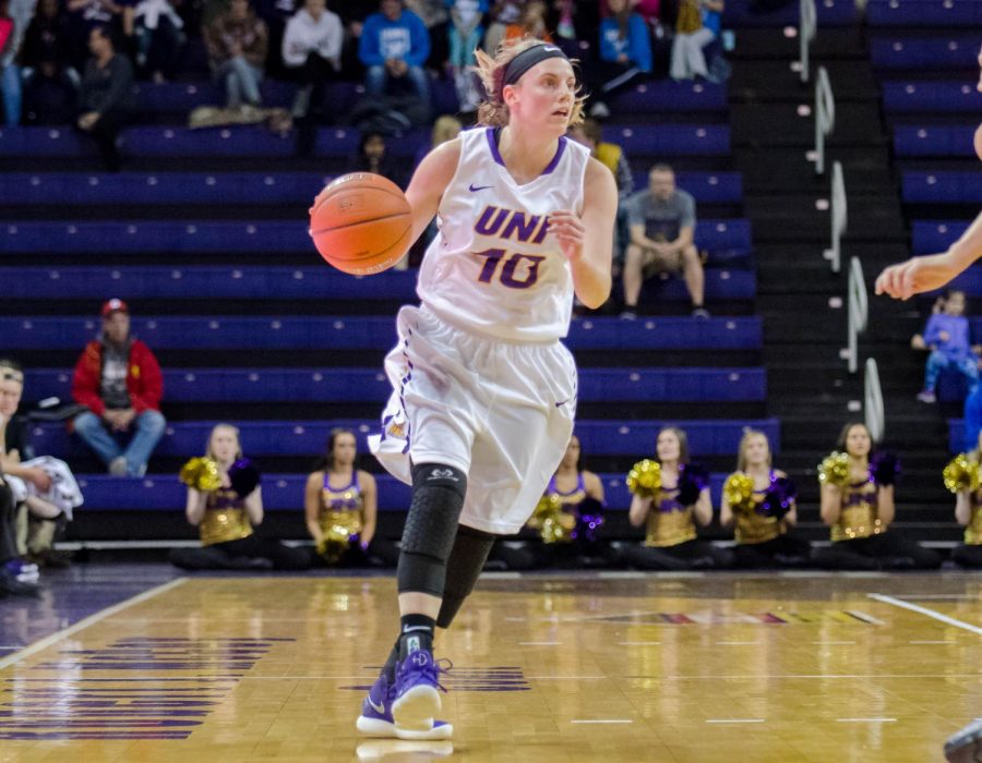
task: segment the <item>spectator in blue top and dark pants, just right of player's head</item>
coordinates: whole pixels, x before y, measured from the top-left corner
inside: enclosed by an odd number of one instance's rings
[[[600,57],[585,69],[590,116],[610,117],[607,101],[619,90],[651,73],[648,26],[628,0],[610,0],[611,15],[600,22]]]

